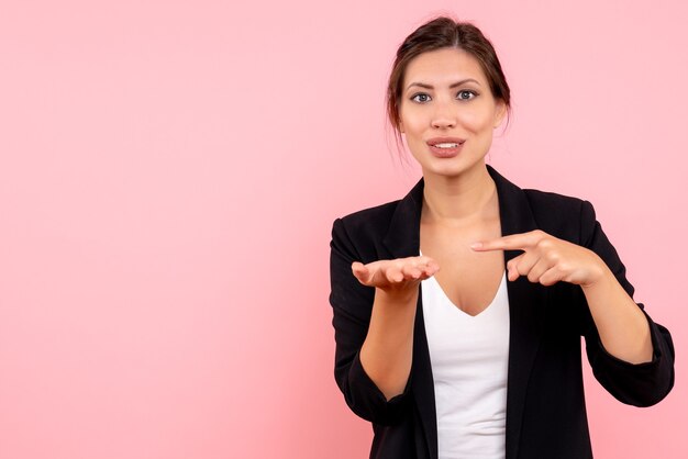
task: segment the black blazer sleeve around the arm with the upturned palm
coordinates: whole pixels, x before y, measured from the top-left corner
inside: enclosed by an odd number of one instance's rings
[[[330,248],[330,304],[336,345],[334,378],[347,405],[358,416],[376,424],[396,424],[409,404],[411,378],[403,393],[388,401],[360,365],[360,347],[368,333],[375,289],[360,284],[351,267],[354,261],[370,260],[360,257],[341,219],[333,224]]]

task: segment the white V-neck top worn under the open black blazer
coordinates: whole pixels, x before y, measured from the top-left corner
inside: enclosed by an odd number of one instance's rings
[[[471,316],[434,277],[421,282],[437,411],[440,459],[503,459],[509,360],[507,273]]]

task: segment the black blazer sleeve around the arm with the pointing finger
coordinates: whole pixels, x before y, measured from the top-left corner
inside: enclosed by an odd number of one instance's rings
[[[634,288],[625,277],[625,267],[602,232],[600,223],[596,220],[595,210],[590,202],[582,202],[580,217],[582,245],[602,258],[621,287],[629,296],[633,298]],[[674,344],[668,329],[653,322],[642,303],[636,304],[650,324],[653,346],[652,361],[634,365],[609,354],[602,346],[587,307],[584,335],[588,360],[600,384],[623,403],[650,406],[664,399],[674,387]]]

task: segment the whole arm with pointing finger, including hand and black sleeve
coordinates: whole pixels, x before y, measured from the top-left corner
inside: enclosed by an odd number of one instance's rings
[[[559,281],[578,286],[572,289],[572,305],[580,295],[582,334],[595,377],[624,403],[657,403],[674,385],[672,337],[633,301],[625,268],[587,201],[581,202],[579,222],[576,244],[536,229],[477,243],[473,248],[523,250],[507,264],[511,281],[528,276],[543,286]]]

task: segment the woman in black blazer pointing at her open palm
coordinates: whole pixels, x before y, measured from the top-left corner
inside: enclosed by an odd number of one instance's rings
[[[335,379],[371,458],[590,458],[580,336],[598,381],[647,406],[674,384],[666,328],[636,304],[576,198],[485,164],[510,93],[491,44],[439,18],[399,47],[388,114],[423,178],[334,222]]]

